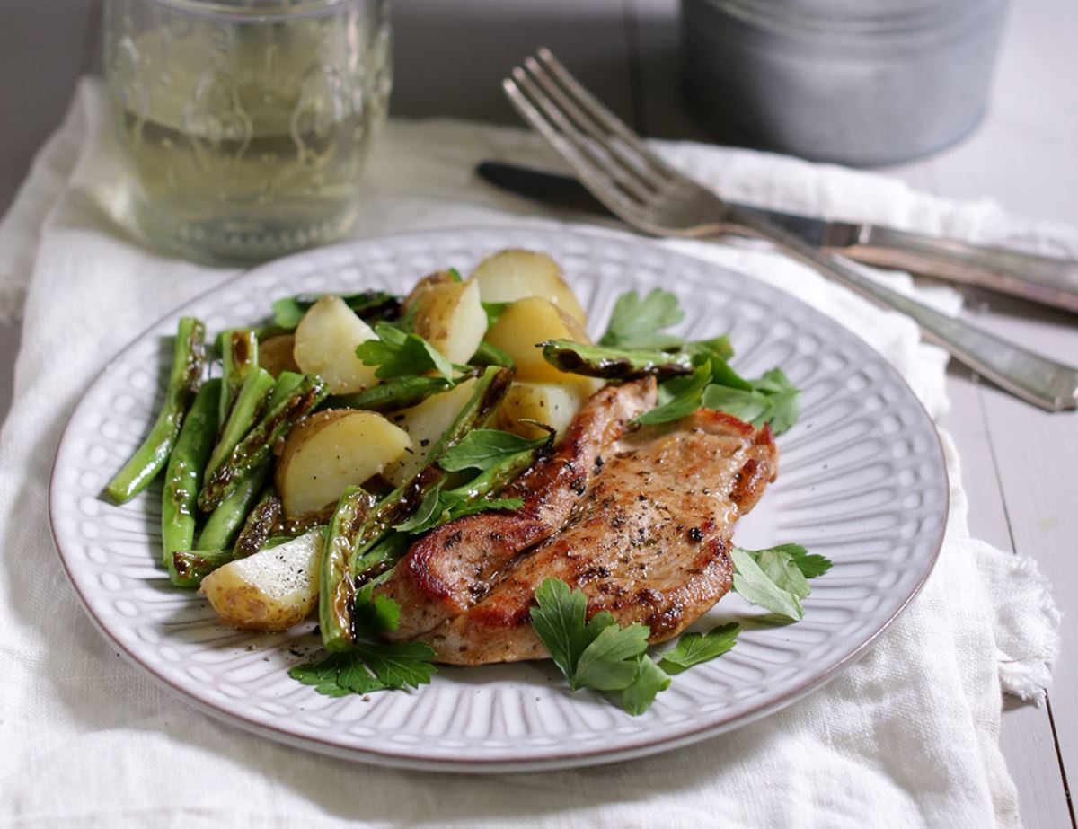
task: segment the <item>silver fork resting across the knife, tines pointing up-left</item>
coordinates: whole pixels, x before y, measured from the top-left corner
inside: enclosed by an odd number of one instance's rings
[[[521,116],[580,181],[623,221],[653,236],[766,239],[862,296],[912,318],[926,338],[1023,400],[1050,412],[1078,409],[1078,369],[1042,357],[885,288],[848,260],[801,241],[768,219],[731,207],[671,167],[585,89],[548,49],[502,81]]]

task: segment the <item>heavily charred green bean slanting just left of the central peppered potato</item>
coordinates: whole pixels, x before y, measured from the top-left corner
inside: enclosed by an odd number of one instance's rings
[[[287,372],[291,377],[295,375]],[[289,383],[285,374],[277,379],[278,386]],[[287,397],[275,388],[262,419],[248,432],[229,455],[227,459],[212,473],[198,494],[198,508],[204,512],[215,509],[232,495],[245,476],[259,469],[271,454],[277,441],[306,416],[327,396],[326,381],[318,376],[304,376]],[[284,398],[274,402],[274,398]]]

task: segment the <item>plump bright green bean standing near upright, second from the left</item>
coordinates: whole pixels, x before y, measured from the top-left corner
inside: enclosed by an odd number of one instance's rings
[[[161,491],[161,544],[162,561],[169,572],[172,554],[177,550],[190,550],[194,541],[198,487],[217,437],[221,381],[203,384],[183,418],[176,447],[168,458],[165,485]]]

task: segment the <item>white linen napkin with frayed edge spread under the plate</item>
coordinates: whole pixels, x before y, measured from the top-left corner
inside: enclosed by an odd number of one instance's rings
[[[745,150],[661,149],[731,198],[1078,249],[1066,229],[868,174]],[[484,157],[550,161],[521,130],[389,124],[369,163],[357,233],[534,215],[475,180],[472,167]],[[84,81],[0,224],[0,308],[24,314],[15,400],[0,432],[0,817],[25,827],[215,829],[1019,824],[998,745],[1000,694],[1042,696],[1059,647],[1058,612],[1032,559],[969,538],[946,436],[946,539],[909,609],[871,652],[806,700],[688,748],[544,774],[407,773],[286,748],[160,690],[98,635],[63,575],[47,528],[50,466],[72,406],[110,356],[235,272],[150,250],[132,230],[121,181],[103,89]],[[945,407],[945,358],[920,344],[909,320],[759,246],[676,247],[810,302],[890,360],[934,416]],[[920,290],[902,275],[887,278]],[[948,290],[923,295],[957,304]]]

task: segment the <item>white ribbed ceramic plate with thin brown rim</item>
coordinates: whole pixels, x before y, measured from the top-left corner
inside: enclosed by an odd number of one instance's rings
[[[124,507],[99,497],[162,401],[182,313],[210,332],[252,324],[296,292],[406,291],[431,271],[468,273],[507,247],[548,251],[593,320],[622,291],[662,286],[687,310],[679,333],[730,332],[734,364],[780,365],[801,387],[779,476],[742,525],[745,547],[797,541],[833,559],[798,624],[754,623],[735,595],[695,627],[747,621],[733,651],[674,679],[644,716],[570,694],[551,663],[441,669],[414,692],[329,699],[288,667],[317,655],[308,623],[282,635],[219,625],[158,561],[160,486]],[[135,664],[211,715],[303,748],[387,765],[508,772],[642,757],[743,724],[808,693],[861,654],[931,569],[946,515],[936,431],[899,376],[865,343],[749,277],[614,234],[482,229],[357,241],[259,267],[153,326],[116,357],[71,416],[51,491],[56,547],[101,632]]]

